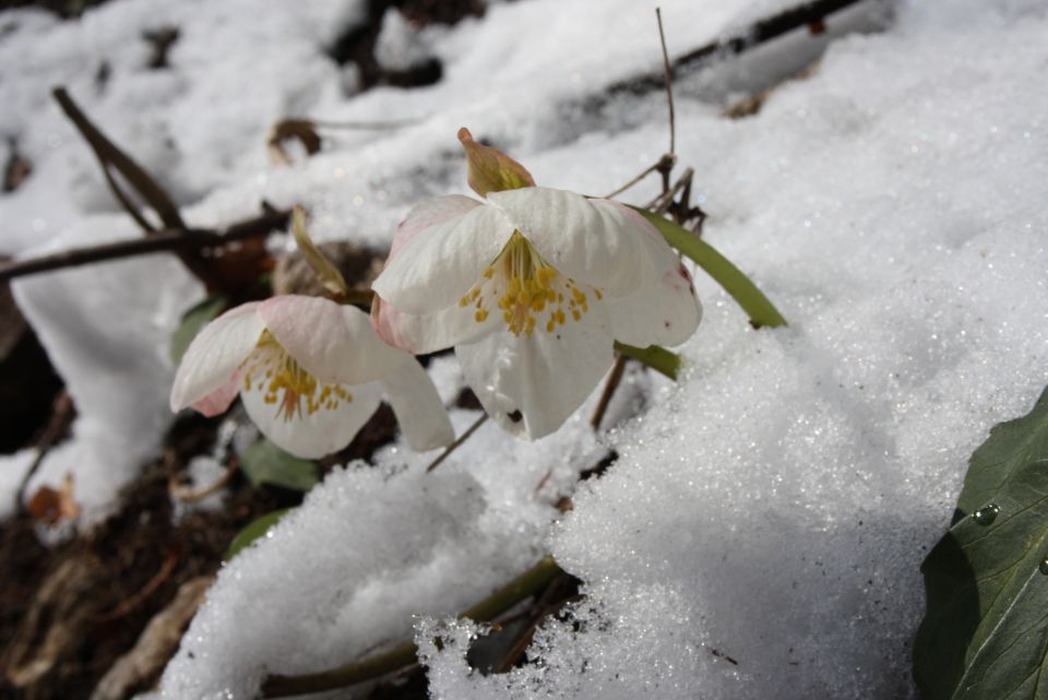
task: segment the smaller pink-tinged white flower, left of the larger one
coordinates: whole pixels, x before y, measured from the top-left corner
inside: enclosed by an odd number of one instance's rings
[[[175,377],[171,410],[217,415],[237,394],[262,432],[298,456],[346,446],[383,394],[413,449],[454,439],[415,358],[382,342],[359,309],[319,297],[245,304],[193,339]]]

